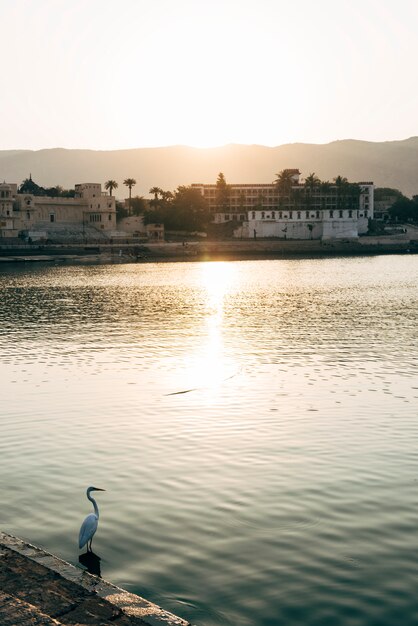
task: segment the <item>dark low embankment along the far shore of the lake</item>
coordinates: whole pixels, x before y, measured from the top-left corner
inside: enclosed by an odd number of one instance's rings
[[[228,240],[100,245],[0,246],[0,262],[126,263],[297,259],[418,253],[418,231],[411,237],[357,240]]]

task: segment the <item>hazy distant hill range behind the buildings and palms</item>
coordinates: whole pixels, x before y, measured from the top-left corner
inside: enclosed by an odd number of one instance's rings
[[[322,180],[338,175],[350,181],[373,181],[418,194],[418,137],[369,142],[346,139],[328,144],[266,146],[227,145],[220,148],[138,148],[133,150],[3,150],[0,180],[21,183],[32,174],[42,187],[72,188],[80,182],[116,180],[116,196],[127,196],[125,178],[135,178],[133,195],[149,196],[151,187],[173,191],[179,185],[214,183],[223,172],[229,183],[269,183],[285,168],[297,167],[302,177],[315,172]]]

